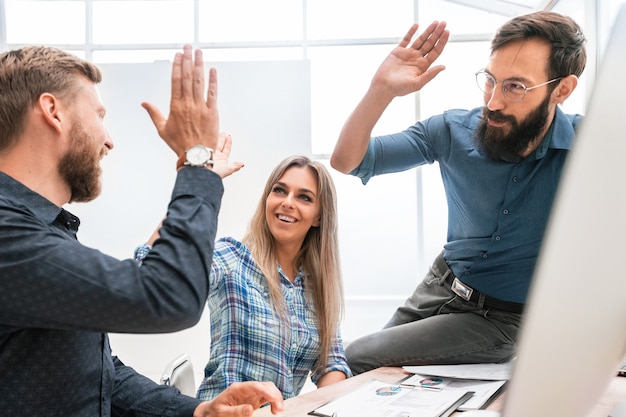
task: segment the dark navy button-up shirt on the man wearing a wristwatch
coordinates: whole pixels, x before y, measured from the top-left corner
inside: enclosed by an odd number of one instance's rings
[[[125,366],[107,332],[199,320],[222,194],[215,173],[181,169],[139,268],[81,245],[77,217],[0,172],[0,415],[191,416],[200,401]]]

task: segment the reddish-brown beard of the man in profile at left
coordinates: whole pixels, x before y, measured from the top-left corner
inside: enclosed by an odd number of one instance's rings
[[[75,123],[70,131],[70,150],[61,158],[59,173],[70,186],[70,203],[84,203],[100,195],[102,168],[100,160],[106,154],[82,124]]]

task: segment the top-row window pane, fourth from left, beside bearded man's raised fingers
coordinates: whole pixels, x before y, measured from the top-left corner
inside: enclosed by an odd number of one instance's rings
[[[398,38],[414,21],[412,0],[313,0],[307,9],[309,39]]]

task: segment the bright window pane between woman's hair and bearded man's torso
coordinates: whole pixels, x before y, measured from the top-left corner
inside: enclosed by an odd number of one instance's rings
[[[428,270],[428,266],[420,268],[416,255],[419,248],[415,169],[379,175],[367,186],[351,175],[332,168],[329,171],[337,188],[339,251],[347,297],[399,296],[393,304],[402,304],[423,271]],[[388,303],[383,307],[390,308]],[[384,323],[388,316],[381,310],[379,320]],[[355,337],[353,331],[350,333],[350,338]]]

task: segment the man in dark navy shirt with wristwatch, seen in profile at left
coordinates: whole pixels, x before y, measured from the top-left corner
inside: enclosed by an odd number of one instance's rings
[[[250,415],[282,409],[272,383],[232,385],[201,402],[111,355],[107,332],[173,332],[195,324],[208,294],[223,193],[212,171],[217,79],[206,93],[200,51],[176,55],[165,118],[144,103],[179,155],[161,238],[139,268],[81,245],[62,207],[100,192],[113,149],[97,67],[55,48],[0,55],[0,415]],[[171,167],[174,168],[173,166]]]

